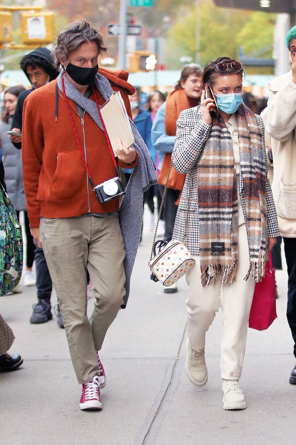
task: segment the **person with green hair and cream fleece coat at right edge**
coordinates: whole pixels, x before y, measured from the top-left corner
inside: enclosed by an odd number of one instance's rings
[[[272,194],[288,269],[287,319],[296,358],[296,26],[286,36],[292,69],[268,85],[268,102],[261,117],[271,136],[273,159]],[[296,365],[290,384],[296,384]]]

